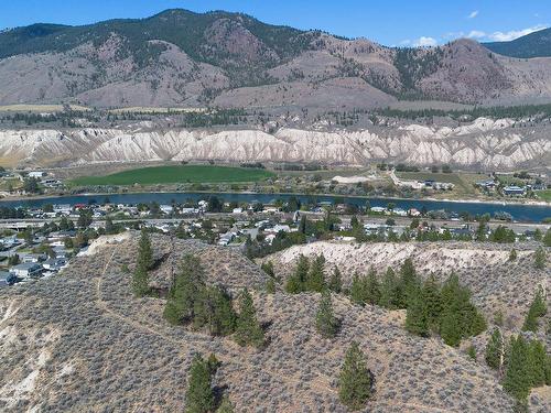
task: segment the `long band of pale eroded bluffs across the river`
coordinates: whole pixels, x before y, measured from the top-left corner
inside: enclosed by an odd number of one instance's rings
[[[549,164],[549,128],[515,128],[510,119],[468,124],[359,131],[72,129],[0,131],[0,159],[17,164],[144,161],[321,162],[364,165],[391,160],[414,165],[507,170]]]

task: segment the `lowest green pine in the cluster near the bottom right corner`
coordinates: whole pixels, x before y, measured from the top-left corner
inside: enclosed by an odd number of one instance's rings
[[[530,391],[530,366],[528,345],[522,336],[511,337],[507,357],[504,389],[519,401],[525,401]]]

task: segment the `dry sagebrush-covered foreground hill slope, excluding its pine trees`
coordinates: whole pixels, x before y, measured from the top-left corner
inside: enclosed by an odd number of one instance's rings
[[[202,257],[212,283],[255,289],[266,278],[228,249],[177,241],[171,254],[166,237],[152,243],[158,281],[187,252]],[[0,410],[182,411],[194,352],[213,351],[223,361],[215,385],[237,412],[345,412],[337,377],[346,348],[357,340],[377,380],[366,412],[511,411],[487,368],[439,339],[408,335],[400,312],[357,307],[345,297],[334,298],[343,325],[327,340],[314,328],[317,294],[256,291],[269,338],[261,352],[170,326],[163,300],[131,295],[122,268],[134,261],[136,244],[134,237],[98,248],[63,275],[0,291]],[[33,385],[13,390],[30,376]]]

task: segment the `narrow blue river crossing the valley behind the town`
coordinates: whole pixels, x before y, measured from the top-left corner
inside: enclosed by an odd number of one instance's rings
[[[183,203],[185,200],[199,200],[207,199],[210,195],[226,202],[260,202],[262,204],[272,203],[276,199],[289,199],[291,196],[296,196],[302,203],[320,203],[329,202],[334,199],[343,199],[338,195],[290,195],[290,194],[242,194],[242,193],[131,193],[131,194],[90,194],[90,195],[71,195],[47,198],[33,198],[33,199],[18,199],[18,200],[3,200],[0,206],[10,207],[40,207],[44,204],[88,204],[90,202],[102,203],[109,198],[114,204],[138,204],[138,203],[152,203],[170,204],[172,200]],[[348,204],[365,206],[369,200],[371,207],[380,206],[386,207],[392,203],[396,208],[410,209],[417,208],[421,210],[423,207],[426,210],[444,209],[447,211],[462,213],[466,211],[471,215],[483,215],[505,211],[509,213],[517,221],[541,222],[544,218],[551,218],[550,205],[526,205],[526,204],[490,204],[490,203],[476,203],[476,202],[446,202],[446,200],[430,200],[430,199],[395,199],[395,198],[363,198],[363,197],[345,197]]]

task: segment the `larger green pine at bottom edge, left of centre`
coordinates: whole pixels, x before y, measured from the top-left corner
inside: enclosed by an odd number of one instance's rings
[[[215,400],[210,381],[212,376],[207,362],[196,355],[190,369],[185,413],[207,413],[214,410]]]

